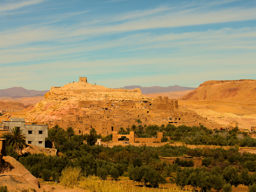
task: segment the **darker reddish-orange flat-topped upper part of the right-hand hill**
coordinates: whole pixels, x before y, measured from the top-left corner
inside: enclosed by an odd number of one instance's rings
[[[206,81],[180,100],[256,103],[256,80]]]

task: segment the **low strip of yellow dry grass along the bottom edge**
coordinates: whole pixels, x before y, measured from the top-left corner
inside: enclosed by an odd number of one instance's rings
[[[152,189],[146,187],[126,186],[114,181],[102,181],[98,177],[82,177],[79,187],[93,192],[180,192],[177,187],[172,189]],[[190,192],[190,191],[187,191]]]

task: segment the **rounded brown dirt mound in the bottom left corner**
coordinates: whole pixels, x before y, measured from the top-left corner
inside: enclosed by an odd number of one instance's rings
[[[0,167],[0,185],[6,185],[9,191],[38,189],[39,182],[36,177],[13,157],[4,156],[3,162]]]

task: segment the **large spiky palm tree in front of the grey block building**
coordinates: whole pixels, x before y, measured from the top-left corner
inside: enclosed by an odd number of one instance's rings
[[[8,145],[12,145],[14,150],[18,153],[26,146],[26,137],[23,134],[23,130],[19,127],[10,129],[10,138],[8,139]]]

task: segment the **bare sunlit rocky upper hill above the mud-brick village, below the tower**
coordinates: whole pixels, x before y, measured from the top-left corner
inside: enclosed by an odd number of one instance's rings
[[[138,101],[152,100],[141,94],[140,89],[110,89],[85,82],[68,83],[52,87],[45,99],[17,113],[29,121],[60,120],[60,114],[67,115],[70,108],[79,108],[80,101]],[[6,114],[9,115],[9,114]],[[12,114],[15,116],[15,114]]]

